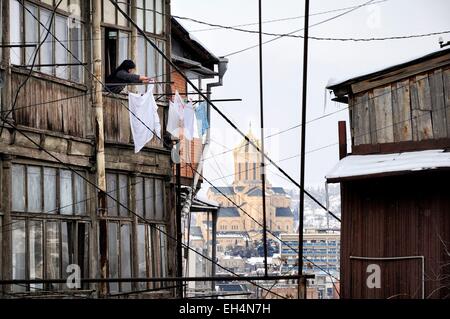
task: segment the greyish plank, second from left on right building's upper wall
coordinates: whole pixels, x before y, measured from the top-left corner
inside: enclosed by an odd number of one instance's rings
[[[377,143],[394,141],[391,86],[373,90]]]

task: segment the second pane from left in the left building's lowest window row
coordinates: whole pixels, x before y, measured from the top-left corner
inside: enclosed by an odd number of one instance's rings
[[[30,279],[44,279],[43,225],[40,221],[30,221],[28,241]],[[43,289],[42,284],[31,284],[31,291]]]

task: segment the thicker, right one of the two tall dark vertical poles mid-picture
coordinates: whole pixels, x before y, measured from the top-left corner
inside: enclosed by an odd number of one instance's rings
[[[308,90],[308,32],[309,32],[309,0],[305,0],[305,28],[303,37],[303,89],[302,89],[302,136],[300,158],[300,209],[298,214],[298,275],[303,274],[303,218],[305,213],[305,143],[306,143],[306,102]],[[306,281],[303,277],[298,281],[298,299],[306,299]]]

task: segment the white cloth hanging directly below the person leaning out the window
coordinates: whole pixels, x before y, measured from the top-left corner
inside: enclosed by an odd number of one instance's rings
[[[158,105],[153,97],[153,87],[153,84],[149,84],[147,93],[142,95],[128,94],[135,153],[139,153],[155,134],[161,138],[161,122],[158,116]]]

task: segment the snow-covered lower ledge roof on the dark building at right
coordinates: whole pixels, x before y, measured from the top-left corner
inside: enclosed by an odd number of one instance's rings
[[[450,168],[450,152],[428,150],[395,154],[350,155],[342,159],[328,173],[326,179],[329,182],[337,182],[339,179],[350,177],[438,168]]]

